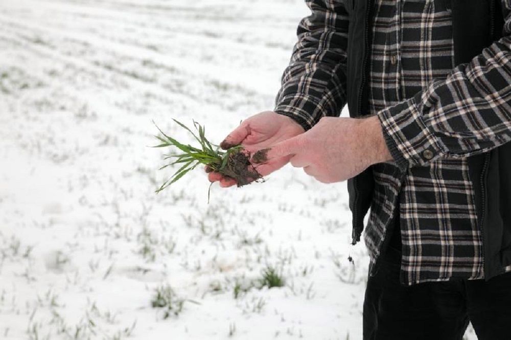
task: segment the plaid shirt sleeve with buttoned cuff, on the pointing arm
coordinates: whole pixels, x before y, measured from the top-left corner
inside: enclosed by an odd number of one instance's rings
[[[511,0],[503,37],[412,98],[377,113],[402,170],[487,152],[511,140]]]

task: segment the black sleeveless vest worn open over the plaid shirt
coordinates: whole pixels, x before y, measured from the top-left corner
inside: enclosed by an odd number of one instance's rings
[[[502,36],[501,0],[444,0],[452,10],[454,59],[467,63]],[[368,75],[374,0],[346,0],[347,104],[351,117],[368,114]],[[468,158],[477,220],[482,230],[486,280],[511,265],[511,143]],[[373,196],[371,167],[347,180],[353,214],[353,244],[360,241]]]

